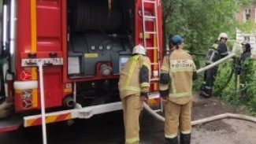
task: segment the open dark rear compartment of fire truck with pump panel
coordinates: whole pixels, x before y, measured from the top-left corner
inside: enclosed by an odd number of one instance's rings
[[[83,106],[118,101],[118,75],[134,41],[133,1],[109,7],[107,0],[69,0],[68,6],[68,77],[83,79],[76,83],[76,101]]]

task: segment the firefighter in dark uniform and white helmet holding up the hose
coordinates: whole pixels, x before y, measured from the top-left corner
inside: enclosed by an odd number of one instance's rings
[[[228,48],[226,42],[228,40],[228,35],[221,33],[217,39],[216,43],[213,43],[206,54],[206,65],[210,65],[215,61],[220,60],[222,57],[228,55]],[[218,66],[214,66],[204,72],[203,83],[201,85],[201,93],[199,94],[202,97],[210,98],[213,90],[213,83],[217,75]]]

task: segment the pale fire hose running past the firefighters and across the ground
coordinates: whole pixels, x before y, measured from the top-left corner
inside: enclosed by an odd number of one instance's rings
[[[204,72],[207,69],[213,68],[213,66],[219,65],[222,62],[224,62],[224,61],[226,61],[226,60],[228,60],[232,57],[235,57],[235,56],[236,56],[236,54],[228,54],[227,57],[224,57],[221,60],[216,61],[211,65],[207,65],[204,68],[200,68],[196,72],[197,73]],[[157,120],[165,121],[165,117],[163,117],[163,116],[159,115],[158,113],[154,112],[153,109],[150,109],[150,106],[147,105],[147,103],[144,102],[143,105],[144,105],[144,108],[147,110],[147,112],[150,113],[152,116],[154,116]],[[224,113],[224,114],[220,114],[220,115],[216,115],[216,116],[206,117],[206,118],[201,119],[201,120],[192,121],[191,125],[195,126],[195,125],[198,125],[198,124],[204,124],[204,123],[207,123],[207,122],[210,122],[210,121],[227,119],[227,118],[238,119],[238,120],[247,120],[247,121],[251,121],[251,122],[256,123],[256,118],[253,117],[253,116],[245,116],[245,115],[233,114],[233,113]]]

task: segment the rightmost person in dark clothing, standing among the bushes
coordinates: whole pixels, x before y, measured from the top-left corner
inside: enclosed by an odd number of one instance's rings
[[[250,44],[247,42],[243,42],[242,44],[242,50],[243,54],[241,55],[239,65],[237,66],[236,70],[238,71],[237,74],[240,75],[240,90],[241,90],[241,96],[242,98],[246,97],[247,90],[244,87],[245,86],[245,80],[247,75],[247,65],[245,64],[245,61],[251,57],[250,53]]]

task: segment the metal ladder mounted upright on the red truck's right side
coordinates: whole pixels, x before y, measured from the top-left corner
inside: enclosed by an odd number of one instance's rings
[[[158,36],[158,0],[142,0],[142,18],[143,18],[143,44],[147,51],[153,50],[154,57],[153,62],[152,59],[151,65],[153,66],[153,78],[150,79],[150,86],[153,85],[154,89],[158,88],[158,82],[159,82],[159,75],[160,75],[160,53],[159,53],[159,36]],[[146,6],[145,5],[153,5],[154,6],[154,13],[146,13]],[[154,24],[154,30],[150,31],[147,28],[147,23]],[[154,35],[154,46],[147,46],[147,37],[150,37],[150,35]],[[150,93],[149,94],[149,101],[158,99],[158,102],[160,103],[160,109],[154,109],[156,112],[163,112],[163,103],[160,98],[160,94],[157,93]]]

